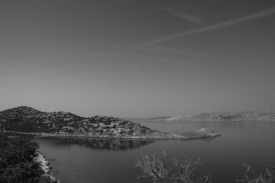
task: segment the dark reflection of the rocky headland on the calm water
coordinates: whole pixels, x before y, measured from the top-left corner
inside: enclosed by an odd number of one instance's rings
[[[39,137],[36,141],[47,141],[55,146],[79,145],[91,149],[102,149],[111,151],[120,151],[126,149],[135,149],[155,143],[157,140],[140,139],[118,139],[118,138],[87,138],[87,137]]]

